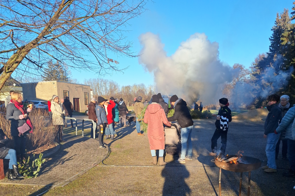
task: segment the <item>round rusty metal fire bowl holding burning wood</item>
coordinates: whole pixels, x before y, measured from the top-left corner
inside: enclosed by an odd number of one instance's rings
[[[235,155],[229,155],[228,158],[234,157]],[[215,160],[215,165],[223,170],[231,171],[231,172],[251,172],[253,170],[257,170],[261,167],[261,160],[249,157],[249,156],[242,156],[240,158],[242,161],[247,162],[247,164],[238,163],[238,164],[232,164],[232,163],[224,163]]]

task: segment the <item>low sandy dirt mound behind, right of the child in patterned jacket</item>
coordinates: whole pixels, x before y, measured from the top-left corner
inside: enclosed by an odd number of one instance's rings
[[[268,110],[266,108],[259,108],[259,109],[255,109],[255,110],[250,110],[245,113],[238,114],[233,117],[233,121],[234,122],[264,123],[267,114],[268,114]]]

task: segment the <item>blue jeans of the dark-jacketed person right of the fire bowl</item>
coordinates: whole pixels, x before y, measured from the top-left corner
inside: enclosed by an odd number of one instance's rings
[[[268,133],[266,137],[266,157],[267,166],[276,170],[275,148],[280,139],[280,134]]]

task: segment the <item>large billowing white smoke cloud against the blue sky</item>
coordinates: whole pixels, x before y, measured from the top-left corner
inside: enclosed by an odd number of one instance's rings
[[[205,33],[190,36],[171,56],[158,35],[148,32],[139,40],[139,62],[154,74],[157,92],[210,104],[222,97],[223,84],[232,81],[232,68],[219,60],[218,43],[210,42]]]

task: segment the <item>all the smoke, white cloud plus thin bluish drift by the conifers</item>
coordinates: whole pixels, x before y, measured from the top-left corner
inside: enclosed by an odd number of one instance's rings
[[[145,33],[139,37],[143,49],[139,63],[154,74],[156,91],[162,95],[184,98],[188,103],[201,99],[204,105],[215,104],[222,94],[224,84],[232,82],[238,72],[219,60],[218,43],[210,42],[204,33],[195,33],[182,42],[171,56],[167,56],[164,44],[158,35]],[[266,69],[255,84],[237,82],[230,96],[232,106],[239,108],[249,105],[256,98],[266,98],[288,84],[293,68],[288,71],[275,71],[282,65],[278,57],[271,68]]]

